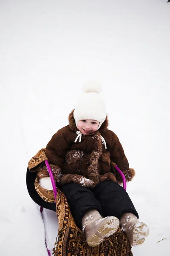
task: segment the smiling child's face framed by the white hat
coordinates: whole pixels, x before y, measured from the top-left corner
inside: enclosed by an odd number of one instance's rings
[[[91,134],[97,131],[99,121],[93,119],[83,119],[78,122],[78,129],[83,135]]]

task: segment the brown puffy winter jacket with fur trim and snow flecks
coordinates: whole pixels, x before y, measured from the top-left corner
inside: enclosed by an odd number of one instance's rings
[[[113,131],[108,130],[108,118],[98,131],[92,135],[82,135],[81,142],[77,140],[76,143],[74,141],[78,129],[73,111],[68,120],[69,125],[57,131],[46,146],[46,156],[51,164],[54,178],[59,184],[74,182],[82,186],[94,187],[103,180],[121,183],[122,178],[114,170],[115,165],[121,169],[127,181],[132,180],[135,171],[129,169],[129,163],[118,137]],[[100,135],[105,139],[107,149]]]

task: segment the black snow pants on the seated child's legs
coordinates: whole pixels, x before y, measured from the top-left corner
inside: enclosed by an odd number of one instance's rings
[[[93,189],[77,183],[67,183],[59,186],[59,189],[65,194],[71,213],[80,229],[82,229],[82,217],[88,209],[97,209],[103,217],[120,218],[123,213],[132,212],[139,218],[125,189],[114,181],[99,182]]]

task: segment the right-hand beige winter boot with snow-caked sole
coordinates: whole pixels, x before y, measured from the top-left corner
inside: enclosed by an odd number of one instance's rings
[[[143,244],[145,238],[149,235],[149,228],[133,213],[124,213],[120,218],[120,226],[125,231],[128,240],[132,246]]]

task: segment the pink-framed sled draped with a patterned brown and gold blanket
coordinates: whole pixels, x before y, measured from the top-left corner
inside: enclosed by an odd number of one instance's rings
[[[36,172],[42,164],[45,164],[48,169],[53,190],[43,189],[40,186]],[[117,166],[115,166],[115,169],[121,175],[123,187],[126,189],[124,174]],[[43,208],[46,208],[56,211],[58,216],[58,236],[52,252],[54,256],[133,256],[127,236],[122,232],[120,227],[116,233],[106,237],[96,247],[90,247],[86,243],[85,234],[77,227],[65,195],[56,187],[48,159],[45,155],[45,148],[42,148],[29,161],[26,180],[29,195],[40,205],[41,214],[43,213]],[[45,245],[48,256],[51,256],[52,254],[48,248],[47,240],[48,238],[45,233]]]

